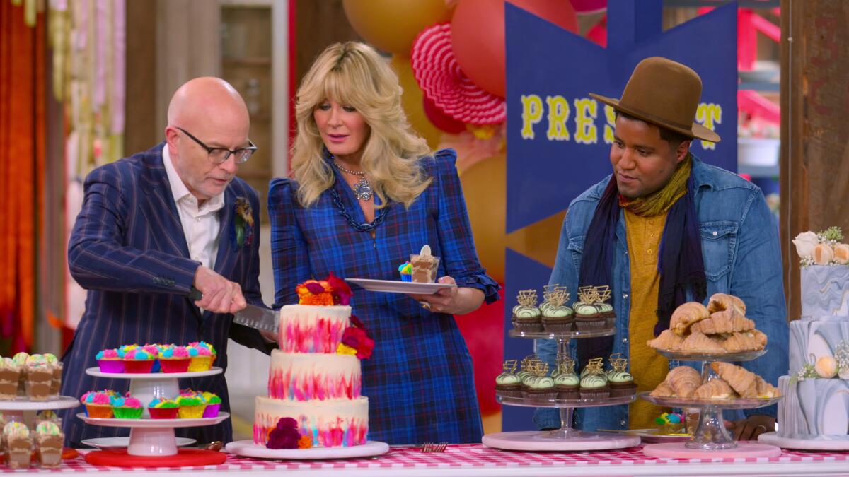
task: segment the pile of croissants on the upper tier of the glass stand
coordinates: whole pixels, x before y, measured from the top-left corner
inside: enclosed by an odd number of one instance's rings
[[[724,354],[762,350],[767,335],[745,317],[745,303],[734,295],[717,293],[707,306],[684,303],[672,312],[669,329],[647,342],[656,350]]]

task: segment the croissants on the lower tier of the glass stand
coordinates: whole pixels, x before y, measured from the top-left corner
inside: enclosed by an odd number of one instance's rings
[[[730,362],[711,362],[716,376],[702,382],[701,373],[689,366],[673,368],[650,396],[699,399],[771,398],[781,396],[772,384]]]

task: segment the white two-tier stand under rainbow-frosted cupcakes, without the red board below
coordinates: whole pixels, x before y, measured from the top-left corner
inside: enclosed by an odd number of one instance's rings
[[[203,378],[222,373],[221,368],[188,373],[101,373],[100,368],[88,368],[86,374],[97,378],[130,379],[130,394],[147,405],[154,398],[173,399],[180,394],[177,379]],[[85,413],[76,416],[86,424],[105,427],[128,427],[130,441],[127,454],[132,456],[173,456],[177,454],[175,428],[198,427],[220,424],[230,417],[228,412],[219,412],[216,418],[199,419],[151,419],[147,407],[143,407],[140,419],[89,418]]]

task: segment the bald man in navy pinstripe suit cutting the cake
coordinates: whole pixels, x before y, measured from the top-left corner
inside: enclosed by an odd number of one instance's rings
[[[87,376],[95,355],[125,344],[185,345],[204,340],[227,368],[227,343],[270,352],[275,346],[232,313],[261,305],[259,199],[235,177],[256,146],[248,139],[245,102],[226,81],[188,81],[168,107],[166,141],[101,166],[85,182],[85,199],[68,246],[71,275],[88,290],[86,311],[65,351],[62,394],[126,392],[126,379]],[[188,298],[194,287],[202,298]],[[223,374],[181,379],[181,388],[206,390],[229,411]],[[143,404],[147,404],[146,402]],[[65,441],[129,435],[128,429],[87,425],[64,416]],[[232,441],[229,420],[178,429],[200,442]]]

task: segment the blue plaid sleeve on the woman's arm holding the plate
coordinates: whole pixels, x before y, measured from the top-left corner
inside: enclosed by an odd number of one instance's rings
[[[498,283],[486,274],[478,261],[463,186],[457,174],[457,153],[441,149],[434,154],[430,188],[436,193],[439,217],[437,232],[446,272],[459,287],[480,289],[486,303],[500,298]]]

